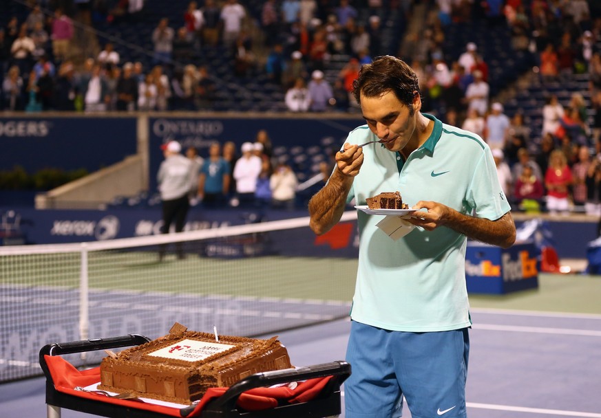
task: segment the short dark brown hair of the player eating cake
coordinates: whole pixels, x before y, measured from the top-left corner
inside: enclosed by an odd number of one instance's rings
[[[419,94],[419,83],[413,69],[394,56],[379,56],[371,64],[359,70],[359,77],[352,83],[352,94],[361,104],[361,94],[365,97],[379,97],[392,91],[399,101],[411,107],[415,91]]]

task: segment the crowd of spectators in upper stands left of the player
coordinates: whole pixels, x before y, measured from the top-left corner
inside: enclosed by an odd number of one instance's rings
[[[379,54],[382,47],[377,12],[381,8],[406,8],[405,3],[410,2],[357,2],[363,8],[368,5],[372,8],[370,17],[361,21],[357,8],[348,0],[266,1],[260,6],[257,19],[262,36],[254,39],[249,30],[253,25],[249,5],[244,6],[238,0],[206,0],[202,4],[190,1],[186,10],[181,11],[180,19],[162,17],[157,23],[149,22],[155,25],[149,63],[134,62],[127,54],[120,56],[114,43],[101,36],[99,54],[77,56],[74,20],[61,8],[52,10],[51,5],[56,3],[61,2],[43,2],[44,8],[34,4],[25,19],[12,17],[0,28],[0,109],[211,109],[218,79],[211,74],[211,63],[199,58],[202,47],[224,49],[231,56],[226,65],[231,65],[230,72],[240,78],[240,83],[247,76],[266,74],[285,94],[297,84],[297,78],[304,78],[308,85],[319,72],[324,74],[334,54],[369,62],[370,56]],[[128,3],[132,2],[119,1],[110,10],[105,10],[106,7],[94,10],[94,15],[104,13],[106,21],[113,24],[132,21],[132,16],[140,14],[143,2],[133,2],[131,8]],[[100,7],[92,4],[92,8]],[[259,43],[262,45],[258,50],[266,50],[263,55],[256,52]],[[35,73],[34,67],[37,67]],[[137,80],[138,85],[135,92],[125,76],[131,67],[134,70],[129,77]],[[127,85],[123,87],[127,91],[121,90],[123,84]],[[323,84],[329,86],[330,82],[324,79]],[[119,97],[126,98],[125,107],[117,107]],[[308,110],[346,111],[346,100],[335,106],[335,92],[326,99],[326,107],[317,98]]]

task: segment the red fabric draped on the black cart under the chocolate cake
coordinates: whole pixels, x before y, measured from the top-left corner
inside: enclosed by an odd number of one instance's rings
[[[139,408],[143,410],[151,410],[153,412],[162,413],[171,417],[180,417],[178,408],[170,408],[168,406],[160,406],[148,404],[145,402],[135,401],[131,399],[115,399],[97,395],[95,393],[87,393],[76,391],[76,386],[89,386],[100,382],[100,368],[87,369],[84,371],[77,370],[70,362],[60,356],[45,355],[46,365],[52,376],[52,383],[56,391],[68,393],[78,397],[105,401],[109,404],[128,406],[129,408]],[[246,391],[238,398],[238,406],[245,410],[262,410],[277,406],[278,401],[287,400],[290,403],[300,403],[310,401],[321,392],[328,381],[333,376],[318,377],[316,379],[300,382],[294,389],[288,386],[279,386],[276,388],[254,388]],[[220,397],[227,391],[228,388],[209,388],[204,394],[200,402],[196,405],[193,412],[188,417],[199,417],[204,406],[215,397]]]

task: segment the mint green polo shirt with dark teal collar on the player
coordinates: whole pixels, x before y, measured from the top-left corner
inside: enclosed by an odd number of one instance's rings
[[[434,120],[432,135],[407,161],[382,144],[363,147],[364,161],[349,200],[365,205],[381,192],[401,192],[409,206],[437,201],[463,214],[499,219],[511,207],[490,148],[478,135]],[[367,125],[347,138],[378,138]],[[381,215],[359,211],[359,267],[351,318],[392,331],[447,331],[471,325],[465,285],[465,235],[415,228],[398,241],[379,230]]]

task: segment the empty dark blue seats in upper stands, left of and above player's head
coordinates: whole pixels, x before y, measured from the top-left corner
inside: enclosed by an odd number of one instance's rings
[[[143,18],[136,22],[130,21],[96,21],[94,25],[98,30],[101,43],[105,40],[114,42],[115,50],[122,57],[122,61],[140,61],[145,69],[152,66],[151,41],[152,30],[162,17],[167,17],[171,28],[183,25],[183,14],[186,10],[188,0],[147,0],[143,11]],[[241,1],[249,10],[253,25],[260,26],[260,13],[262,1]],[[399,40],[405,28],[405,17],[399,10],[378,12],[382,21],[383,45],[388,53],[394,54],[399,47]],[[370,10],[359,9],[359,22],[367,22]],[[348,63],[350,56],[333,56],[328,69],[326,69],[326,80],[333,83],[337,78],[339,70]],[[276,85],[265,74],[262,67],[253,67],[244,77],[236,77],[233,74],[233,56],[231,51],[218,46],[202,46],[191,63],[194,65],[206,65],[209,74],[218,87],[218,94],[213,102],[215,111],[286,111],[284,104],[284,91]],[[187,64],[187,63],[181,63]]]

